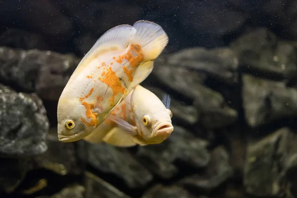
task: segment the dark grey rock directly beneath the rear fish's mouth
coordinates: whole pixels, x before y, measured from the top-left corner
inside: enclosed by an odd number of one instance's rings
[[[206,141],[175,125],[167,140],[161,144],[139,147],[136,155],[152,173],[169,179],[178,172],[174,165],[176,160],[195,168],[205,167],[210,160],[207,144]]]

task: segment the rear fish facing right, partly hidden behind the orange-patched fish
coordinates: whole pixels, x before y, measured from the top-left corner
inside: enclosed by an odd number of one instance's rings
[[[160,100],[148,89],[137,85],[84,140],[98,144],[105,142],[117,147],[160,144],[173,132],[170,97]]]

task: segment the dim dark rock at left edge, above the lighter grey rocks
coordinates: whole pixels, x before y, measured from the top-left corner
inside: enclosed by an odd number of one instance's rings
[[[21,29],[8,29],[0,35],[0,46],[20,49],[48,49],[42,35]]]

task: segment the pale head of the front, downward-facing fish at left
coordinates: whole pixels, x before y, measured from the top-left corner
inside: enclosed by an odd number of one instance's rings
[[[88,136],[95,127],[84,122],[82,115],[86,113],[83,105],[75,99],[59,99],[57,107],[58,140],[75,142]]]

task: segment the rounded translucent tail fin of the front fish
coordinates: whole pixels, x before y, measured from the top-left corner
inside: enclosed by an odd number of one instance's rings
[[[168,44],[168,36],[161,26],[150,21],[137,21],[133,27],[136,33],[131,37],[131,44],[141,46],[144,61],[156,59]]]

